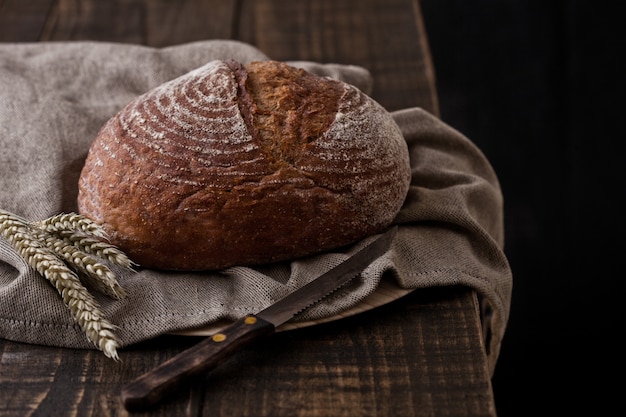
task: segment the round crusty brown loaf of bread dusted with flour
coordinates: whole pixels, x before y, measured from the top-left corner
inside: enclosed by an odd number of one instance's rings
[[[143,267],[214,270],[376,234],[410,177],[400,129],[352,85],[276,61],[212,61],[102,127],[78,209]]]

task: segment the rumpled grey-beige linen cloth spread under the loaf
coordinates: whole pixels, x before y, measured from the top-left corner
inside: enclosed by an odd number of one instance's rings
[[[76,211],[77,181],[99,128],[128,101],[214,59],[269,59],[234,41],[156,49],[99,42],[0,44],[0,208],[30,220]],[[370,92],[357,66],[292,62]],[[375,80],[374,80],[375,81]],[[488,307],[491,370],[512,291],[503,253],[503,202],[481,151],[419,108],[392,113],[409,146],[412,184],[388,253],[358,279],[298,316],[332,317],[358,305],[381,280],[403,289],[465,285]],[[372,190],[376,192],[376,190]],[[124,346],[261,310],[341,262],[340,251],[258,268],[207,273],[117,271],[128,297],[94,293]],[[94,348],[59,294],[0,237],[0,337]]]

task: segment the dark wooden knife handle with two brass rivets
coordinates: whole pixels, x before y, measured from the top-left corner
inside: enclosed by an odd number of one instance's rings
[[[128,411],[154,406],[188,381],[214,369],[239,348],[275,331],[272,323],[256,316],[237,320],[220,333],[179,353],[122,389],[122,402]]]

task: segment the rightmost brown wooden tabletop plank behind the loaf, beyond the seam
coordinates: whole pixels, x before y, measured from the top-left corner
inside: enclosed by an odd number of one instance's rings
[[[237,37],[278,60],[360,65],[388,110],[438,113],[419,4],[405,0],[242,2]]]

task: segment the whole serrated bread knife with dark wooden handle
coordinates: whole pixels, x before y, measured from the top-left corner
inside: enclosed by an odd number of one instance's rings
[[[271,335],[278,326],[346,284],[387,252],[397,229],[389,229],[347,260],[264,310],[235,321],[130,382],[122,389],[124,407],[128,411],[150,408],[190,378],[217,367],[238,349]]]

